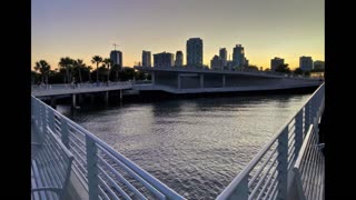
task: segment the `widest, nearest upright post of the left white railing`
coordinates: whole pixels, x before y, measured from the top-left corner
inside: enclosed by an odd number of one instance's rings
[[[98,148],[95,141],[86,134],[87,146],[87,170],[88,170],[88,188],[89,188],[89,200],[98,200]]]

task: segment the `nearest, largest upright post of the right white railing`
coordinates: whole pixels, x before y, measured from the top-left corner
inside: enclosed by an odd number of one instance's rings
[[[288,127],[278,137],[278,196],[277,199],[287,199],[287,178],[288,178]]]

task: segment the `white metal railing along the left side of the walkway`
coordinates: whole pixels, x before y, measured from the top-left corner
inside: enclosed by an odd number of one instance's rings
[[[31,96],[32,126],[49,127],[75,156],[73,173],[89,199],[184,199],[76,122]]]

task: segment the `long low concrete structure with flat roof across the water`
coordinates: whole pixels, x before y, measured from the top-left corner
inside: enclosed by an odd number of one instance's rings
[[[316,78],[293,77],[261,71],[214,71],[186,68],[135,67],[151,74],[151,84],[136,84],[139,91],[162,90],[170,93],[238,92],[318,87]]]

